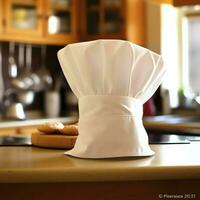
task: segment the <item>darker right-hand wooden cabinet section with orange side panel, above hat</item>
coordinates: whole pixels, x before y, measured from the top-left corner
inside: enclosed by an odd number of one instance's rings
[[[81,40],[127,39],[145,43],[143,0],[83,0]]]

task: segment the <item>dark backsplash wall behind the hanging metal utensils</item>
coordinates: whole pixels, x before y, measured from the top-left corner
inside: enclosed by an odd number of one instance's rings
[[[4,83],[4,94],[6,94],[7,91],[9,91],[11,88],[13,88],[13,86],[10,83],[10,77],[9,77],[9,45],[10,43],[8,42],[1,42],[1,52],[2,52],[2,73],[3,73],[3,83]],[[15,43],[15,51],[14,51],[14,58],[15,58],[15,62],[17,65],[17,73],[18,76],[20,77],[20,75],[24,72],[24,69],[26,68],[26,46],[27,44],[20,44],[20,43]],[[24,59],[21,58],[20,61],[20,57],[19,57],[19,50],[21,48],[21,50],[23,49],[23,57]],[[56,92],[59,93],[60,96],[60,115],[61,116],[66,116],[67,114],[69,114],[69,111],[71,112],[72,110],[77,111],[77,105],[72,105],[70,102],[68,104],[68,99],[71,94],[71,90],[69,88],[69,85],[67,83],[67,81],[64,78],[64,75],[62,73],[62,70],[60,68],[58,59],[57,59],[57,51],[62,48],[61,46],[46,46],[46,58],[45,58],[45,65],[47,70],[49,71],[49,74],[51,75],[52,79],[53,79],[53,84],[50,88],[42,90],[42,91],[34,91],[35,93],[35,98],[33,103],[31,103],[30,105],[26,105],[24,106],[26,111],[30,111],[30,110],[39,110],[42,111],[42,113],[45,114],[45,93],[50,91],[50,90],[54,90]],[[42,66],[42,56],[41,56],[41,50],[42,50],[42,46],[41,45],[31,45],[31,49],[32,49],[32,59],[31,59],[31,72],[34,73],[38,73],[38,71],[40,70],[41,66]],[[21,55],[22,57],[22,55]],[[24,63],[24,64],[23,64]],[[1,63],[0,63],[1,64]],[[23,65],[23,66],[22,66]],[[16,93],[18,93],[18,91],[16,91]],[[68,95],[69,94],[69,95]],[[16,94],[15,94],[16,96]],[[12,97],[13,98],[13,97]],[[15,98],[15,97],[14,97]],[[13,101],[13,99],[12,99]],[[14,100],[16,101],[16,100]],[[5,111],[5,104],[6,104],[6,98],[4,95],[4,101],[0,102],[1,105],[1,112],[4,113]],[[8,103],[9,104],[9,103]]]

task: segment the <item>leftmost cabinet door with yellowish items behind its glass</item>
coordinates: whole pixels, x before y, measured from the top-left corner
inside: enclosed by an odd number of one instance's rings
[[[13,37],[42,35],[42,0],[4,0],[5,31]]]

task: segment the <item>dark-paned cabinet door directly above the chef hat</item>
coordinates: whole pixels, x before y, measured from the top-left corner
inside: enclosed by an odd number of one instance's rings
[[[83,39],[125,38],[124,0],[84,0]]]

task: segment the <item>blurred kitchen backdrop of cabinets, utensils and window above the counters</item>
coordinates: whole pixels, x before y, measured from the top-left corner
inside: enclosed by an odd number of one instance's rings
[[[199,35],[199,0],[0,0],[1,121],[77,116],[57,51],[99,38],[163,55],[168,74],[145,115],[200,112]]]

